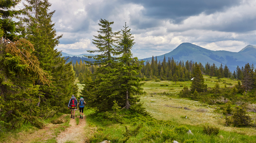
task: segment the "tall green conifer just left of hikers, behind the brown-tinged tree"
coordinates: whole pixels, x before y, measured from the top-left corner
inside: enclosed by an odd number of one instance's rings
[[[62,37],[62,35],[56,35],[54,23],[52,23],[55,10],[49,12],[51,4],[48,0],[26,1],[27,4],[24,6],[28,13],[21,18],[24,23],[23,36],[34,45],[33,53],[40,62],[40,68],[53,77],[51,87],[42,85],[40,80],[37,81],[36,84],[40,86],[41,92],[38,94],[38,106],[42,103],[40,101],[44,101],[43,106],[50,103],[52,106],[62,107],[58,109],[63,111],[65,103],[59,99],[68,100],[70,95],[77,93],[77,86],[74,84],[75,72],[72,64],[65,64],[61,51],[54,49]]]

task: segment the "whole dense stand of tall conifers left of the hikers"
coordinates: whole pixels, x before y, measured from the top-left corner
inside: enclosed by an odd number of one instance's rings
[[[0,2],[0,132],[27,123],[43,127],[43,119],[66,112],[67,102],[77,94],[72,64],[54,49],[57,36],[48,0]],[[18,18],[19,21],[13,21]]]

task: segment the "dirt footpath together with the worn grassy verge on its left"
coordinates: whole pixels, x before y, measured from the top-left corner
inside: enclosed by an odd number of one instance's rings
[[[22,129],[23,131],[17,134],[11,134],[8,140],[4,140],[4,143],[44,143],[44,142],[56,142],[57,143],[75,143],[75,142],[87,142],[90,129],[86,129],[86,117],[79,119],[79,110],[76,111],[75,119],[70,118],[70,114],[65,114],[60,117],[64,118],[69,116],[69,126],[60,126],[60,124],[47,124],[43,129]],[[79,119],[78,125],[76,125],[76,118]],[[65,130],[63,131],[63,129]],[[2,142],[2,141],[0,141]]]

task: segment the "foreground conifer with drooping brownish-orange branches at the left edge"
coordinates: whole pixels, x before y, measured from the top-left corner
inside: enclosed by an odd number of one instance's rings
[[[41,128],[36,104],[40,93],[35,83],[50,85],[50,75],[39,66],[33,45],[27,40],[0,40],[0,130],[9,132],[24,122]],[[44,115],[43,115],[44,116]]]

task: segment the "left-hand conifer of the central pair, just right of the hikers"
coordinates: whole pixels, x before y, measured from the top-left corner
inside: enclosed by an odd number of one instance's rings
[[[111,24],[114,22],[109,22],[108,20],[100,19],[99,26],[101,27],[98,36],[94,36],[93,44],[98,48],[98,50],[88,51],[89,53],[101,53],[96,56],[86,56],[88,58],[95,59],[94,62],[86,61],[90,65],[101,65],[101,67],[96,70],[96,79],[94,82],[90,83],[89,87],[90,94],[84,99],[88,106],[95,107],[100,111],[106,111],[112,108],[113,103],[113,81],[117,80],[115,73],[117,69],[117,56],[120,54],[117,52],[117,35],[119,32],[112,32]],[[86,95],[85,93],[82,93]]]

